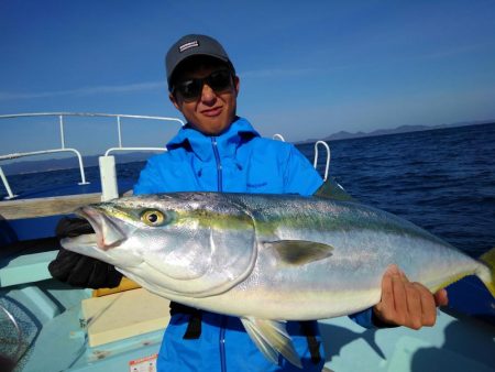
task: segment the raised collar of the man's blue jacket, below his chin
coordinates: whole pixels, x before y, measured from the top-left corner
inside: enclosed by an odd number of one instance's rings
[[[235,151],[243,140],[260,136],[251,123],[237,117],[229,129],[218,136],[205,135],[189,124],[183,127],[179,132],[167,143],[167,150],[185,147],[191,150],[201,161],[209,161],[213,154],[213,140],[222,157],[234,157]]]

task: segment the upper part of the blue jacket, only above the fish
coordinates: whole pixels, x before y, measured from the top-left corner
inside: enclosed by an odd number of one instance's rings
[[[219,136],[183,128],[141,172],[134,194],[224,192],[312,195],[321,177],[297,149],[261,138],[244,119]]]

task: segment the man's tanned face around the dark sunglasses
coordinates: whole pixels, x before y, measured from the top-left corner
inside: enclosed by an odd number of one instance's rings
[[[178,84],[195,78],[205,78],[218,70],[224,70],[226,66],[218,64],[199,64],[180,72],[175,79]],[[227,89],[215,91],[207,81],[197,99],[185,99],[177,90],[169,95],[170,101],[184,114],[186,120],[205,134],[217,135],[227,130],[233,122],[239,94],[239,78],[232,77]]]

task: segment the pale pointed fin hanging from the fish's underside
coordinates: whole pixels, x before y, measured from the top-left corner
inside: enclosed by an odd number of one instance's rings
[[[248,335],[266,359],[278,364],[278,354],[282,354],[290,363],[302,369],[299,355],[294,349],[284,322],[253,317],[242,317],[241,321]]]

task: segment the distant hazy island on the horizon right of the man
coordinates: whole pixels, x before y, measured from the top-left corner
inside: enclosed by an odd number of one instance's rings
[[[373,132],[356,132],[356,133],[351,133],[348,131],[340,131],[340,132],[330,134],[323,139],[308,139],[305,141],[298,141],[298,142],[296,142],[296,144],[314,143],[316,141],[339,141],[339,140],[360,139],[360,138],[365,138],[365,136],[377,136],[377,135],[410,133],[410,132],[420,132],[420,131],[431,131],[431,130],[437,130],[437,129],[447,129],[447,128],[455,128],[455,127],[490,124],[490,123],[494,123],[494,122],[495,122],[495,120],[479,120],[479,121],[458,122],[458,123],[453,123],[453,124],[439,124],[439,125],[400,125],[400,127],[397,127],[394,129],[377,129]]]

